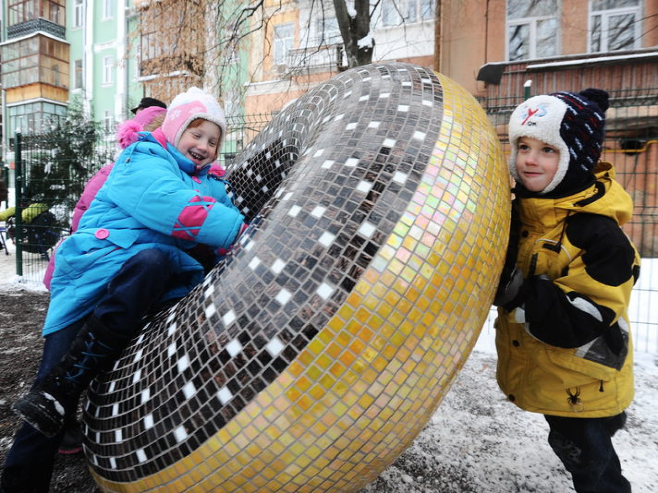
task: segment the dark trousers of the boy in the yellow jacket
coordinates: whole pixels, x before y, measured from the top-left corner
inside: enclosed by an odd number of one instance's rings
[[[571,473],[577,493],[630,493],[622,476],[612,436],[626,423],[626,413],[611,417],[545,416],[548,442]]]

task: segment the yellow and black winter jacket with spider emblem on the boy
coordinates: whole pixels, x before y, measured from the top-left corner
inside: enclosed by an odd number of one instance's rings
[[[499,308],[495,325],[498,384],[524,410],[606,417],[634,395],[626,310],[640,257],[620,228],[633,204],[611,164],[595,174],[570,197],[517,198],[517,267],[530,281],[524,304]]]

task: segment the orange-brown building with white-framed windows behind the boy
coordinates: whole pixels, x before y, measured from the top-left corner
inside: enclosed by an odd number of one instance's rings
[[[658,0],[442,1],[437,69],[484,106],[507,148],[528,95],[609,92],[602,158],[632,195],[625,231],[658,256]]]

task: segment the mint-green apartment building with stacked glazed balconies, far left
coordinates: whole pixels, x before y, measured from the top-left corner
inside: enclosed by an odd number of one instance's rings
[[[13,169],[14,133],[41,133],[82,105],[109,134],[141,99],[130,63],[125,0],[3,0],[3,162]]]

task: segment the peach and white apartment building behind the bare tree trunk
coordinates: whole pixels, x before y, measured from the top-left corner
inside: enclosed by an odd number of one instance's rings
[[[371,14],[373,61],[432,67],[434,0],[383,0]],[[265,0],[249,39],[245,113],[279,110],[291,99],[347,68],[333,3]],[[266,22],[261,29],[255,26]]]

